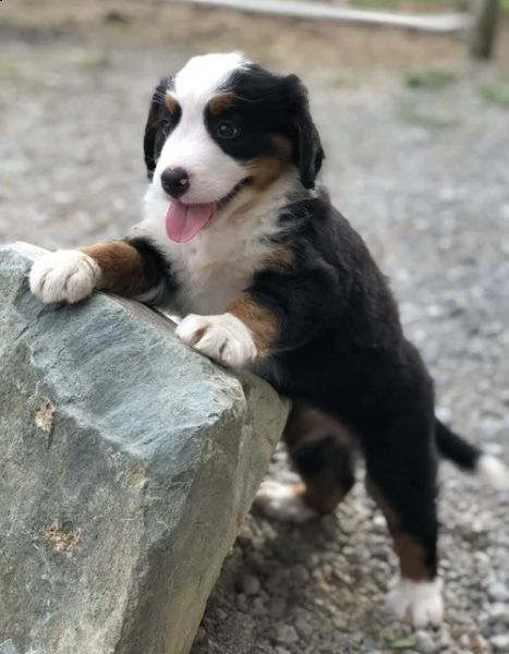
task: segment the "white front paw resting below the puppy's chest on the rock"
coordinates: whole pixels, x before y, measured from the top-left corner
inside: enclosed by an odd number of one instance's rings
[[[230,313],[219,316],[190,314],[177,327],[175,334],[187,346],[229,367],[240,367],[257,354],[251,331]]]

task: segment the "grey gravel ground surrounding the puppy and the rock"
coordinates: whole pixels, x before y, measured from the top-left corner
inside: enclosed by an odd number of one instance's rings
[[[153,83],[192,50],[3,33],[0,241],[122,235],[140,215]],[[325,181],[392,279],[440,415],[509,462],[509,112],[478,93],[496,69],[455,65],[441,90],[404,88],[389,72],[340,84],[310,62],[305,78]],[[291,479],[283,451],[270,474]],[[193,654],[509,652],[508,509],[508,493],[444,464],[446,620],[416,633],[385,613],[395,557],[362,484],[318,523],[252,514]]]

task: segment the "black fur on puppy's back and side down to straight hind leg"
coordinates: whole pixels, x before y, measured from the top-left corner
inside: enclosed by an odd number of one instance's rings
[[[291,270],[260,271],[250,291],[277,316],[274,386],[357,435],[367,473],[436,572],[433,383],[404,338],[385,277],[322,191],[292,206]]]

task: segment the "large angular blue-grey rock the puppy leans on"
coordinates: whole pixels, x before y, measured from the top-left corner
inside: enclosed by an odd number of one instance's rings
[[[0,651],[184,654],[286,419],[270,387],[0,247]]]

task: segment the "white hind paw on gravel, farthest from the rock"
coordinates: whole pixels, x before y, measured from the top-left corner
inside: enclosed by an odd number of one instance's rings
[[[399,579],[387,596],[389,608],[400,619],[409,616],[415,627],[439,625],[444,615],[441,579],[410,581]]]

